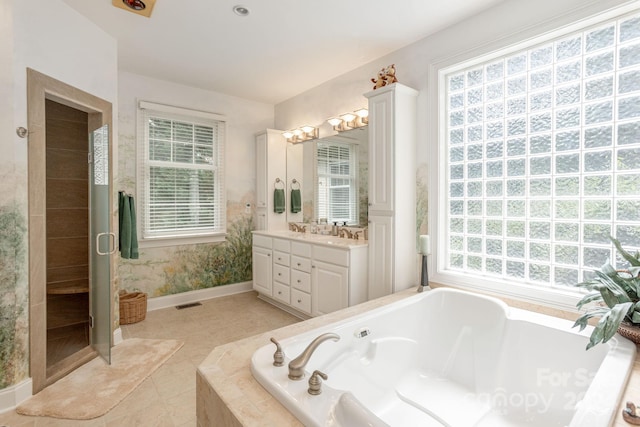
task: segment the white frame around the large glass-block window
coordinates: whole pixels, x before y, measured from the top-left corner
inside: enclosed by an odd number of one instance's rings
[[[488,292],[507,298],[515,298],[534,304],[542,304],[553,308],[576,312],[576,303],[581,299],[582,293],[579,290],[568,291],[565,287],[538,287],[535,285],[518,284],[513,286],[513,282],[501,278],[491,277],[489,280],[477,280],[470,274],[461,274],[452,270],[447,270],[447,217],[448,206],[445,203],[448,187],[446,183],[447,173],[447,146],[446,146],[446,109],[442,108],[447,102],[445,74],[458,69],[466,69],[485,61],[495,59],[504,55],[513,54],[526,50],[536,45],[549,42],[555,38],[568,36],[576,31],[586,31],[605,24],[611,19],[620,19],[639,11],[637,4],[623,5],[612,8],[604,12],[591,15],[579,16],[578,13],[572,16],[564,16],[562,19],[544,22],[534,27],[526,28],[522,31],[513,32],[498,41],[467,47],[452,54],[437,58],[429,66],[429,86],[436,88],[429,94],[430,111],[433,115],[429,117],[432,130],[430,137],[436,141],[429,147],[429,157],[434,159],[430,162],[430,181],[434,183],[429,194],[430,206],[435,206],[430,210],[429,222],[431,224],[432,235],[435,236],[436,250],[430,256],[432,270],[431,280],[435,283],[448,284],[472,291]],[[564,22],[563,22],[564,21]],[[604,260],[603,260],[604,262]]]

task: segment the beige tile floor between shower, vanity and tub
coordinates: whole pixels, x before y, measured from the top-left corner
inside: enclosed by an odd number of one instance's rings
[[[122,326],[124,339],[164,338],[184,341],[163,366],[104,416],[88,421],[0,414],[0,427],[55,426],[189,426],[196,425],[196,368],[221,344],[299,321],[246,292],[202,301],[183,310],[147,313],[136,324]]]

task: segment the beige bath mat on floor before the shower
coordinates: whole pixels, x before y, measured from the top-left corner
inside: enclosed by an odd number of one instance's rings
[[[96,358],[20,404],[16,411],[73,420],[106,414],[184,343],[132,338],[111,349],[111,365]]]

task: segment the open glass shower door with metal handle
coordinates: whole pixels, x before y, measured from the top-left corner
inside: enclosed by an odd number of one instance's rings
[[[110,230],[109,127],[90,134],[89,143],[89,234],[91,247],[91,345],[111,363],[111,254],[116,250]]]

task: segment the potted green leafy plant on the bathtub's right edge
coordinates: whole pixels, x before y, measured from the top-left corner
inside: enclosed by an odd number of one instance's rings
[[[611,241],[629,267],[617,270],[608,260],[595,271],[593,279],[575,285],[589,292],[577,304],[578,309],[587,305],[588,308],[573,327],[580,326],[582,331],[589,319],[600,318],[591,333],[587,350],[609,341],[616,332],[640,343],[640,252],[630,254],[617,239],[611,237]]]

